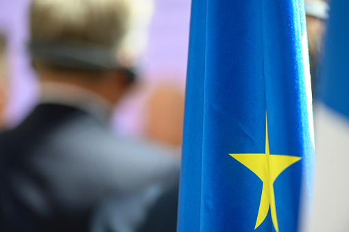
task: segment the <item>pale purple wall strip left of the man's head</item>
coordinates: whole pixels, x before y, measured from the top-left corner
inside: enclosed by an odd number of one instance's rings
[[[25,52],[27,37],[27,0],[0,3],[0,31],[8,39],[10,96],[8,118],[18,123],[36,101],[37,86]]]

